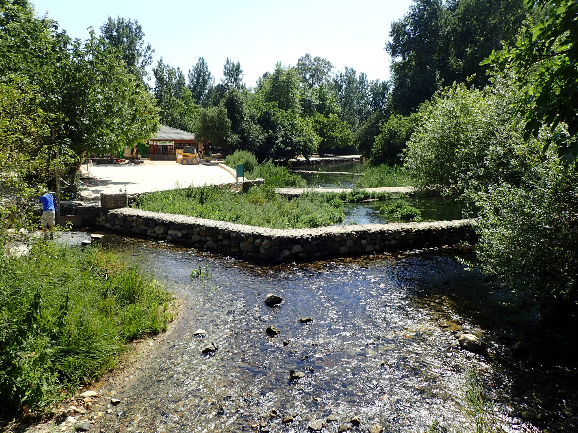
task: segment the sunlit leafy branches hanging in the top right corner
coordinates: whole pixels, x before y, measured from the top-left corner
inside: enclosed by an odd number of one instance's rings
[[[578,154],[578,3],[574,0],[526,0],[529,12],[543,19],[521,31],[515,46],[492,51],[481,62],[512,70],[523,94],[517,101],[525,137],[538,137],[545,124],[565,161]],[[537,15],[538,13],[535,13]],[[562,124],[565,128],[558,128]]]

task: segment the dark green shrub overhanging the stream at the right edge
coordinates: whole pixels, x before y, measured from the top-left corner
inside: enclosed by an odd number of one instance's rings
[[[476,255],[483,271],[540,306],[543,325],[570,338],[578,326],[578,171],[542,144],[523,185],[501,183],[473,197],[480,207]],[[575,328],[574,328],[575,329]]]

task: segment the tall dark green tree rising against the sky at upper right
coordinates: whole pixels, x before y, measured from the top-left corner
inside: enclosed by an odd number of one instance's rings
[[[484,87],[479,62],[502,40],[512,42],[524,20],[523,0],[414,0],[391,25],[391,110],[408,115],[454,81]]]

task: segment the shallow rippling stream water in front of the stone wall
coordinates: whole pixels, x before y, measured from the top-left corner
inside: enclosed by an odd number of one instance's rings
[[[465,400],[472,375],[483,385],[483,419],[504,431],[576,429],[576,365],[513,353],[532,338],[532,322],[510,320],[508,294],[463,270],[455,255],[467,252],[273,265],[114,238],[183,305],[168,343],[118,389],[123,404],[101,421],[106,431],[306,432],[330,414],[338,421],[324,432],[355,415],[353,431],[424,432],[437,423],[475,431]],[[206,265],[212,277],[190,278]],[[265,305],[271,292],[283,303]],[[277,337],[265,334],[270,325]],[[205,338],[192,335],[199,328]],[[460,349],[460,330],[479,335],[487,352]],[[211,341],[217,352],[201,354]],[[305,378],[290,380],[290,369]]]

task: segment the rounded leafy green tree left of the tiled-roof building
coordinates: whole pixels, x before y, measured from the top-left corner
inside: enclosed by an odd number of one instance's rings
[[[84,43],[73,41],[69,52],[69,60],[54,70],[57,113],[63,115],[55,138],[78,157],[69,171],[74,180],[87,153],[116,154],[149,140],[158,130],[158,110],[142,81],[93,29]]]

